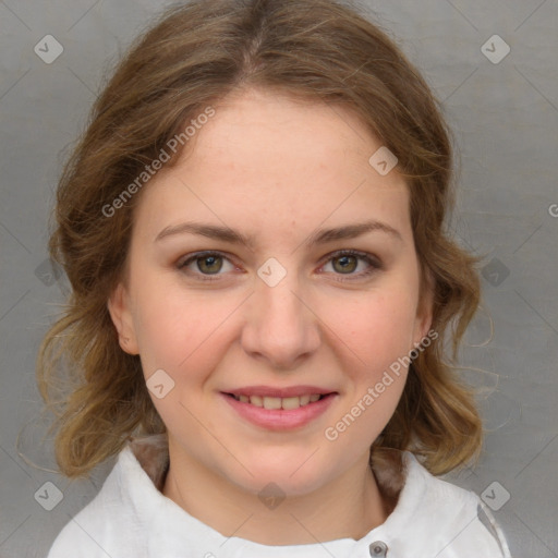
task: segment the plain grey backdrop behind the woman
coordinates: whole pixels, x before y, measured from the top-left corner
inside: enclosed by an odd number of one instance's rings
[[[558,2],[363,3],[445,102],[462,159],[453,228],[486,254],[484,311],[461,362],[480,389],[488,434],[478,466],[450,478],[501,506],[494,513],[515,557],[558,557]],[[49,269],[47,219],[64,149],[83,130],[104,72],[168,4],[0,1],[2,558],[45,556],[112,464],[75,483],[48,471],[35,359],[65,283]],[[499,63],[482,51],[495,34],[511,49]],[[46,35],[64,49],[51,64],[34,51]],[[497,43],[486,49],[504,52]],[[26,459],[15,446],[20,430]],[[63,494],[51,511],[44,506],[56,490],[46,482]]]

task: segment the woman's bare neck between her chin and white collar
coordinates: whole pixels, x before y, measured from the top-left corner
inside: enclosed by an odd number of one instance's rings
[[[381,495],[367,457],[313,493],[269,499],[266,506],[257,494],[184,456],[179,458],[173,449],[169,445],[170,466],[162,493],[223,536],[264,545],[357,541],[384,523],[395,506]]]

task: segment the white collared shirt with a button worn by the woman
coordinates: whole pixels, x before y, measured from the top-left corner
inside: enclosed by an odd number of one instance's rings
[[[408,451],[397,506],[381,525],[359,541],[290,546],[221,535],[167,498],[154,482],[162,465],[154,474],[145,454],[134,451],[129,445],[120,452],[99,494],[64,526],[48,558],[510,558],[478,496],[433,476]]]

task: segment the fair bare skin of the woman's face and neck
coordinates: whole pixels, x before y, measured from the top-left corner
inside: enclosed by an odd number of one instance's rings
[[[226,536],[268,545],[359,539],[392,510],[368,453],[408,371],[335,441],[324,432],[429,329],[408,186],[397,170],[381,177],[368,163],[381,143],[345,108],[256,89],[215,108],[179,163],[142,192],[126,274],[108,305],[146,379],[162,368],[174,381],[163,398],[150,393],[169,433],[162,493]],[[369,219],[400,238],[374,230],[303,244],[317,229]],[[155,241],[194,220],[254,234],[255,244],[187,233]],[[214,250],[229,259],[180,267]],[[343,260],[339,250],[368,253],[381,267]],[[270,257],[287,271],[275,287],[257,275]],[[218,279],[205,282],[204,272]],[[270,432],[220,395],[250,385],[315,385],[338,396],[312,423]],[[286,495],[274,509],[258,498],[270,482]]]

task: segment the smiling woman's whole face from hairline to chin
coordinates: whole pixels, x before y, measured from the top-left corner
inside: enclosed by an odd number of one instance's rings
[[[215,109],[142,192],[109,310],[171,460],[304,494],[365,466],[407,368],[385,373],[428,331],[409,192],[341,107],[250,90]]]

